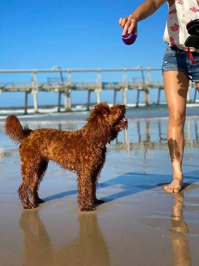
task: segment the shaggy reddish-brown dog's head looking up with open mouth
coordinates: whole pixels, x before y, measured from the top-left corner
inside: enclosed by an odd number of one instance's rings
[[[83,127],[84,136],[98,144],[110,143],[120,131],[127,129],[125,113],[125,105],[109,107],[106,103],[99,103],[92,109],[88,123]]]

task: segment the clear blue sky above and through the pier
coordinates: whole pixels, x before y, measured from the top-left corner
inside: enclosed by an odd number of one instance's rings
[[[138,24],[138,38],[133,45],[127,46],[121,40],[119,18],[130,15],[140,3],[1,0],[0,69],[51,69],[54,65],[70,69],[138,65],[159,68],[166,47],[163,32],[167,3]],[[129,80],[140,77],[138,73],[128,75]],[[45,81],[47,76],[53,75],[40,74],[38,80]],[[96,74],[78,73],[72,79],[95,81]],[[121,81],[122,73],[103,73],[102,79]],[[161,71],[153,74],[153,80],[162,80]],[[30,74],[0,74],[0,83],[29,81]],[[14,95],[9,94],[8,98],[2,94],[0,105],[5,105],[7,99],[19,98],[19,102],[24,102],[24,98],[20,100],[21,96]]]

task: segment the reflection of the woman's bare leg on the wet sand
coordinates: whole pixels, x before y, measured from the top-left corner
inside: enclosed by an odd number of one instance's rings
[[[186,234],[189,232],[188,225],[184,220],[183,209],[184,194],[174,194],[174,205],[171,214],[171,243],[174,253],[173,266],[191,266],[191,254]]]

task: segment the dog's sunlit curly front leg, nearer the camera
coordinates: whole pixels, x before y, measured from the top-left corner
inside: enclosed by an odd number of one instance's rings
[[[82,212],[89,212],[95,210],[90,207],[89,200],[92,193],[92,174],[91,170],[82,166],[81,170],[77,174],[77,202]]]

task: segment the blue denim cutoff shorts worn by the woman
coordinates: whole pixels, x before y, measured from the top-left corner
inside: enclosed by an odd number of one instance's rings
[[[199,61],[199,53],[192,53],[195,62]],[[169,70],[182,71],[192,82],[199,81],[199,64],[191,62],[188,53],[177,46],[166,47],[163,56],[162,74]]]

